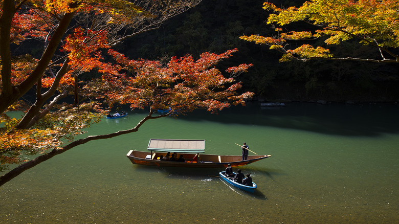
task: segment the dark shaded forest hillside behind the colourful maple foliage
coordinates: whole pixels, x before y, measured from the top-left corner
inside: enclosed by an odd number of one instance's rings
[[[265,24],[268,11],[263,0],[203,0],[188,12],[174,17],[159,29],[125,41],[118,50],[131,59],[167,59],[203,52],[223,53],[238,48],[227,65],[253,63],[242,74],[243,91],[256,93],[267,101],[394,102],[399,99],[398,64],[357,61],[313,60],[278,62],[282,56],[267,46],[240,40],[239,36],[259,34],[272,36],[274,28]],[[303,0],[269,1],[278,6],[300,6]],[[304,23],[284,27],[289,30],[309,29]],[[317,40],[323,44],[323,40]],[[379,56],[376,49],[345,42],[328,46],[339,56]],[[299,45],[303,42],[292,42]]]

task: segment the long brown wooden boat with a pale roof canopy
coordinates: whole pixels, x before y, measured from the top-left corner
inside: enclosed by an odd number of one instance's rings
[[[243,166],[271,156],[248,155],[247,160],[242,161],[241,155],[200,154],[205,152],[205,140],[150,139],[147,149],[148,152],[130,150],[126,156],[133,164],[193,168]],[[177,159],[183,155],[185,161],[162,160],[167,153],[175,153]]]

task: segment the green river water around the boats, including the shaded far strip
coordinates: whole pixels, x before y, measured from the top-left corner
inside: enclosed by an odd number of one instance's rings
[[[399,223],[398,105],[253,103],[197,111],[71,149],[0,187],[0,223]],[[140,111],[86,135],[134,127]],[[150,138],[205,139],[206,153],[271,158],[240,167],[254,194],[220,169],[133,165]],[[250,152],[251,154],[251,152]],[[236,170],[237,168],[234,168]]]

